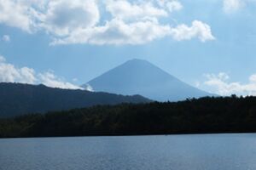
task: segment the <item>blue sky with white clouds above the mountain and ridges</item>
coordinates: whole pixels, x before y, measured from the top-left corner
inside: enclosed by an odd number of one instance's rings
[[[137,58],[212,93],[256,94],[254,0],[8,2],[0,82],[76,88]]]

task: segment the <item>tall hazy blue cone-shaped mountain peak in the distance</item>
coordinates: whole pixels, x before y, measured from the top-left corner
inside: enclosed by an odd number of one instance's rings
[[[128,60],[82,87],[86,86],[96,92],[140,94],[158,101],[177,101],[212,95],[178,80],[143,59]]]

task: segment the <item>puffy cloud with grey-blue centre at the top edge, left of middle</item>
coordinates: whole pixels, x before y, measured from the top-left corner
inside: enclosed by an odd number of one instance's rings
[[[95,26],[99,19],[95,0],[55,0],[49,2],[40,26],[57,36],[65,36]]]

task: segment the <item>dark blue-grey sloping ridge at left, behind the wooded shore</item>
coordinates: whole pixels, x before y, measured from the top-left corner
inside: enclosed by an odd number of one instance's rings
[[[140,95],[123,96],[86,90],[48,88],[44,85],[0,83],[0,116],[62,111],[92,105],[146,103]]]

